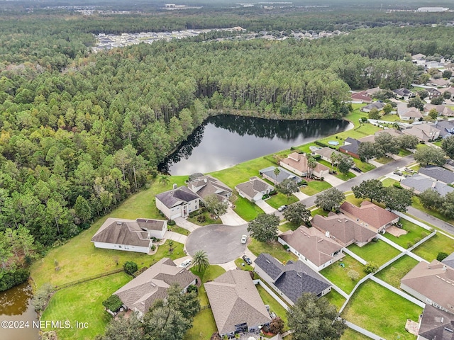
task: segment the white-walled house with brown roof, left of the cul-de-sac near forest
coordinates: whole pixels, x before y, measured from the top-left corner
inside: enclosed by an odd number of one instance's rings
[[[136,251],[148,254],[153,239],[162,239],[167,221],[138,218],[120,220],[109,217],[92,237],[96,248]]]

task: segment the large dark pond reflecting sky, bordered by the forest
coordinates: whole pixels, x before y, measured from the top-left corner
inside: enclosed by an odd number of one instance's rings
[[[159,170],[189,175],[226,169],[273,152],[347,130],[345,120],[270,120],[217,115],[208,118]]]

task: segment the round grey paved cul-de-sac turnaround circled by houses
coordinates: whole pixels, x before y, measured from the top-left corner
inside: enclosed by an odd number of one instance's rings
[[[241,235],[248,234],[248,225],[207,225],[187,237],[186,250],[194,256],[197,250],[206,251],[211,264],[227,263],[243,256],[246,245]]]

